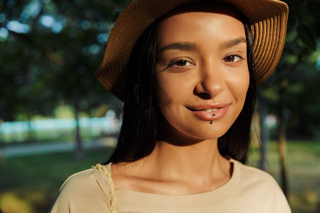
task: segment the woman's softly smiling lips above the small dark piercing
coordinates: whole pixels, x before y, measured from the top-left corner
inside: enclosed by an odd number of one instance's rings
[[[202,104],[187,108],[200,120],[216,121],[226,114],[229,106],[230,104]]]

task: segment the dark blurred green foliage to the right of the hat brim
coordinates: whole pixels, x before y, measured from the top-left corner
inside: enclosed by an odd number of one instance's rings
[[[259,86],[268,113],[284,116],[289,139],[319,139],[320,135],[320,1],[286,0],[287,37],[281,60]],[[281,91],[285,108],[281,109]],[[276,134],[274,134],[276,135]],[[272,136],[272,135],[271,135]],[[273,137],[275,138],[275,136]]]

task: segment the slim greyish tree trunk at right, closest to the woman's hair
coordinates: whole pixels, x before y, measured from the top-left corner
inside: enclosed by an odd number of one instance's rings
[[[259,116],[260,116],[260,141],[261,141],[261,149],[260,149],[260,161],[259,161],[259,169],[266,171],[267,170],[267,148],[268,148],[268,129],[266,126],[266,117],[268,113],[268,107],[261,95],[261,89],[258,90],[258,100],[259,100]]]

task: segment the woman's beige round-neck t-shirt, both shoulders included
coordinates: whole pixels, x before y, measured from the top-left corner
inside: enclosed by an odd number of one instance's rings
[[[110,164],[72,175],[62,185],[51,213],[289,213],[277,182],[267,173],[231,159],[231,179],[216,190],[195,195],[157,195],[113,191]],[[101,171],[103,170],[103,172]],[[111,204],[112,193],[115,204]],[[115,211],[109,208],[116,206]]]

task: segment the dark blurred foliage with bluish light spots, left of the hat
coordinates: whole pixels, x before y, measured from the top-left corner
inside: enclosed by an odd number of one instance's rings
[[[1,1],[0,119],[51,116],[60,104],[77,113],[114,106],[94,72],[124,2]]]

